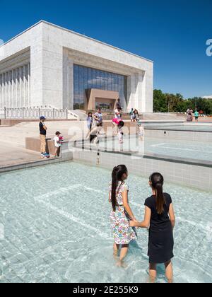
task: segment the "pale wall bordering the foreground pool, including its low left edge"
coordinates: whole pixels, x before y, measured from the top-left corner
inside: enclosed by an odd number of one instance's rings
[[[209,192],[212,188],[211,163],[170,159],[165,156],[136,156],[131,153],[82,149],[81,147],[71,147],[68,141],[62,146],[61,158],[9,166],[1,168],[0,173],[65,161],[76,161],[109,170],[112,170],[115,165],[123,163],[129,169],[129,173],[146,177],[146,179],[151,173],[159,171],[167,182]]]

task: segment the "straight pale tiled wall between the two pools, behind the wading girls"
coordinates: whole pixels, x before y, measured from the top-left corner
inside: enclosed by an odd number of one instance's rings
[[[194,164],[187,161],[166,161],[163,158],[133,156],[127,153],[98,152],[87,149],[82,151],[81,148],[74,148],[73,161],[98,165],[110,170],[116,165],[125,164],[129,173],[147,179],[153,172],[160,172],[167,182],[204,191],[211,191],[212,188],[212,165]]]

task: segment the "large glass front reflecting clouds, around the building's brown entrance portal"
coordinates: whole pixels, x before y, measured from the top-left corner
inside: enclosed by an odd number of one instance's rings
[[[75,110],[85,108],[86,90],[90,88],[119,92],[122,107],[126,107],[127,76],[73,65],[73,108]]]

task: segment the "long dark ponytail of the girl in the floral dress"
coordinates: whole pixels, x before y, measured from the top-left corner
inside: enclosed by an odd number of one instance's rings
[[[118,165],[112,170],[112,191],[111,191],[111,201],[112,209],[116,211],[117,205],[117,187],[120,181],[122,181],[122,176],[124,173],[127,174],[127,168],[125,165]]]

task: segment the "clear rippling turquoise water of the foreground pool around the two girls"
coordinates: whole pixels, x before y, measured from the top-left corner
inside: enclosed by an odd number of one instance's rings
[[[146,282],[147,231],[138,231],[126,269],[115,266],[110,174],[63,163],[0,175],[0,282]],[[142,219],[148,180],[131,175],[128,184],[131,207]],[[211,193],[172,184],[165,191],[177,216],[175,282],[211,282]],[[164,282],[163,267],[158,273]]]

